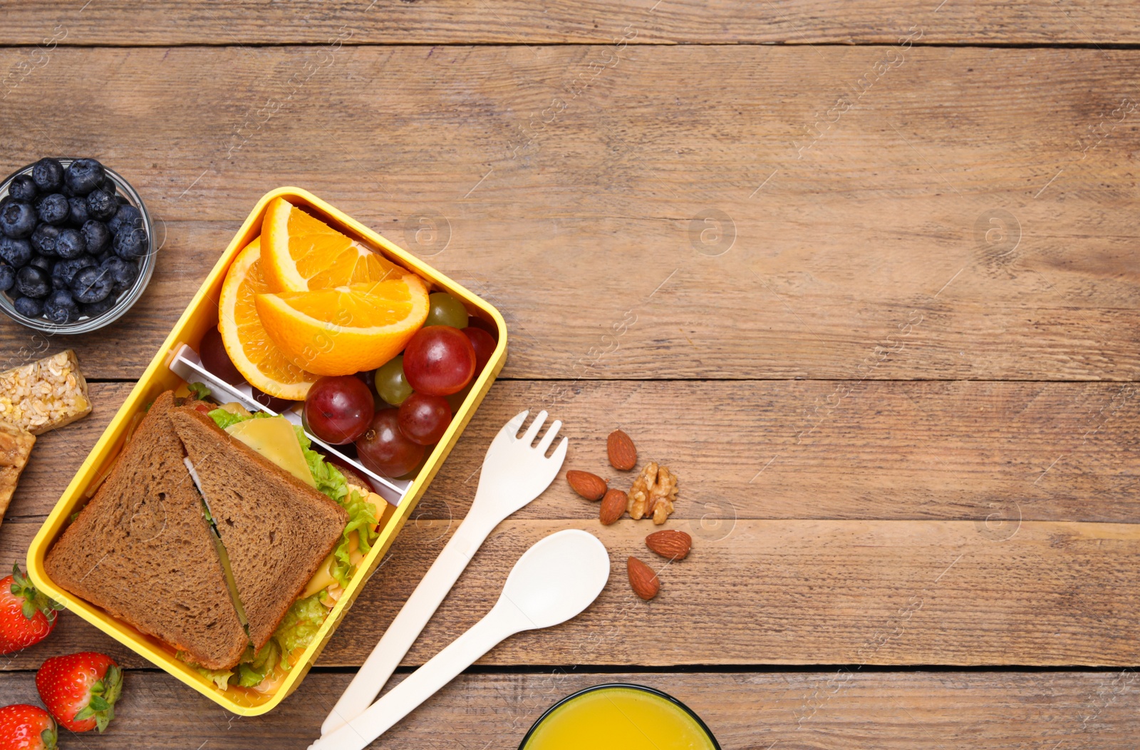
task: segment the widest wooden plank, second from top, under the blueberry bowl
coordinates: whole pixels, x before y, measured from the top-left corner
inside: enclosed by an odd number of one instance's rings
[[[498,305],[507,376],[1135,381],[1138,60],[59,48],[7,91],[22,137],[0,161],[98,155],[165,222],[138,310],[76,344],[95,377],[137,376],[256,198],[293,184]]]

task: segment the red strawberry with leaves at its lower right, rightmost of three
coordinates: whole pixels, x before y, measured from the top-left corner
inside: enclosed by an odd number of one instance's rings
[[[52,657],[35,672],[40,699],[56,720],[72,732],[99,732],[115,718],[115,701],[123,688],[123,672],[101,653],[82,651]]]

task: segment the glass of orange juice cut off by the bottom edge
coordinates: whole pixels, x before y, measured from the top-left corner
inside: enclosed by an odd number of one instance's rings
[[[563,698],[519,750],[720,750],[693,711],[659,690],[609,683]]]

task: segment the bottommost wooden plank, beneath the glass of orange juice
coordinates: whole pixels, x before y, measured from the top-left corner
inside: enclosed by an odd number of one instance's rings
[[[560,698],[625,682],[684,701],[724,750],[1125,750],[1140,729],[1135,677],[1131,670],[465,674],[369,747],[514,748]],[[392,682],[402,678],[396,675]],[[301,750],[320,733],[350,679],[315,671],[274,712],[235,717],[164,672],[128,671],[106,734],[65,734],[60,743]],[[0,694],[13,702],[39,702],[31,672],[0,674]]]

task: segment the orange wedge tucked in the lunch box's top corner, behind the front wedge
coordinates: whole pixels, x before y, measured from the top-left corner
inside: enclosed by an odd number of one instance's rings
[[[285,198],[269,202],[261,241],[261,264],[274,292],[372,284],[408,272]]]

